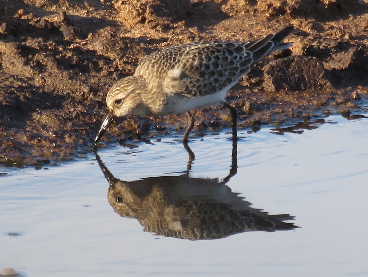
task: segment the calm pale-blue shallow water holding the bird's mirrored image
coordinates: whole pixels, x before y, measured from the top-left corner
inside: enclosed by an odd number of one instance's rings
[[[239,131],[233,159],[222,133],[191,139],[189,164],[179,137],[163,137],[100,149],[100,164],[0,168],[0,270],[368,276],[368,118],[307,128]]]

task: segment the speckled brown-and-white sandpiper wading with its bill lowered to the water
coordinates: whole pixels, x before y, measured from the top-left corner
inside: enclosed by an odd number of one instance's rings
[[[283,40],[293,31],[289,25],[250,41],[195,42],[171,46],[142,60],[134,75],[118,80],[108,91],[109,113],[103,120],[99,142],[106,128],[116,119],[133,116],[166,116],[187,113],[188,128],[183,143],[194,126],[191,110],[226,106],[231,114],[233,139],[237,139],[237,111],[225,97],[251,66],[270,53],[288,49]]]

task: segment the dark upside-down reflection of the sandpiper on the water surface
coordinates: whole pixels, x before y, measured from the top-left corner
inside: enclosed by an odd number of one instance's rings
[[[226,185],[237,172],[237,142],[233,140],[232,164],[225,178],[192,178],[184,174],[123,181],[114,177],[96,153],[109,182],[108,199],[122,217],[139,221],[145,232],[181,239],[218,239],[247,231],[297,228],[289,214],[271,215],[250,207]],[[189,161],[189,165],[191,164]]]

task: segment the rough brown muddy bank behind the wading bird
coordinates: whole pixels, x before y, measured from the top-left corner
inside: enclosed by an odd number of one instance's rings
[[[228,94],[239,127],[366,111],[368,0],[0,0],[0,162],[85,155],[107,113],[109,87],[156,50],[255,39],[289,24],[294,46],[262,60]],[[230,126],[225,108],[194,114],[193,134]],[[103,141],[186,126],[185,115],[127,117]]]

